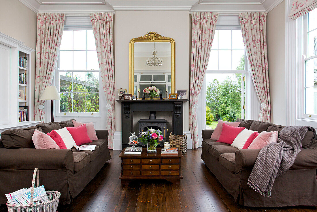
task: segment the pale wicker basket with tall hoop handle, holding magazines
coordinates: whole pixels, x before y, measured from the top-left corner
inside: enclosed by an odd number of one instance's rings
[[[40,175],[38,168],[35,168],[32,179],[31,203],[29,205],[12,205],[7,202],[9,212],[56,212],[61,193],[58,191],[46,191],[49,202],[33,203],[35,177],[37,187],[40,186]]]

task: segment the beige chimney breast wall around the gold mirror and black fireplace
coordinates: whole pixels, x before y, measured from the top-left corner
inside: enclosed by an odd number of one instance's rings
[[[152,18],[153,17],[153,18]],[[171,37],[176,43],[176,89],[189,88],[188,11],[116,11],[114,47],[116,89],[129,89],[129,42],[147,32]],[[116,99],[118,94],[116,93]],[[121,105],[116,103],[116,131],[121,131]],[[189,131],[189,103],[184,104],[184,131]]]

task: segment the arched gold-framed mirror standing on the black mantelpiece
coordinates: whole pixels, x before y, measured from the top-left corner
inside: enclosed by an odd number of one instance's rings
[[[137,95],[149,86],[157,87],[166,98],[175,93],[175,41],[149,32],[130,41],[129,93]],[[168,94],[167,94],[168,97]]]

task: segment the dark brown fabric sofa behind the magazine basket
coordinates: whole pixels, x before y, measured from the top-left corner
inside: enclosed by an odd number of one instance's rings
[[[72,149],[35,149],[34,129],[44,133],[62,127],[74,127],[71,120],[49,122],[23,129],[6,130],[0,139],[0,204],[4,194],[29,188],[33,170],[40,170],[40,185],[46,190],[61,192],[60,204],[69,204],[111,159],[108,131],[96,130],[95,151]]]

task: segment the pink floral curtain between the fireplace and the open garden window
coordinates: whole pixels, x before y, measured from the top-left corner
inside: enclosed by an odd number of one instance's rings
[[[191,15],[191,79],[189,128],[192,148],[198,148],[197,102],[206,73],[210,48],[215,35],[218,13],[193,12]]]

